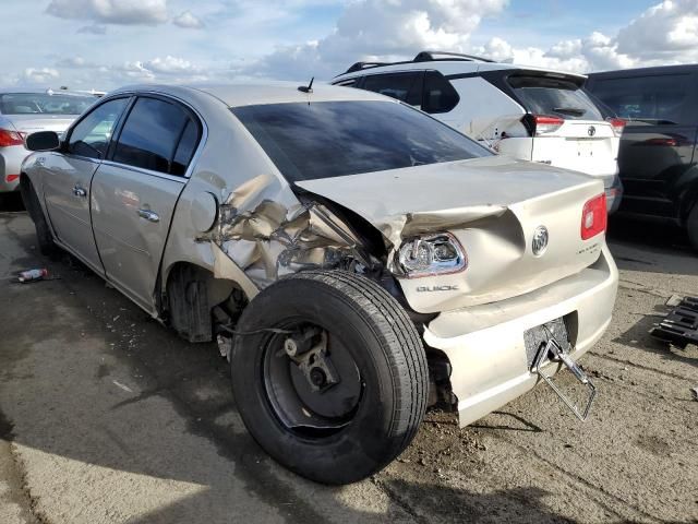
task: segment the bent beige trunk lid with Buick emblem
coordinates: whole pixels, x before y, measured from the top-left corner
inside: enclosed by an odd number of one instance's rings
[[[438,312],[528,293],[595,262],[603,235],[582,240],[585,203],[603,186],[585,175],[506,157],[297,182],[368,219],[393,250],[404,239],[449,231],[468,266],[455,274],[399,278],[410,306]],[[545,251],[532,240],[544,226]],[[394,252],[393,251],[393,252]]]

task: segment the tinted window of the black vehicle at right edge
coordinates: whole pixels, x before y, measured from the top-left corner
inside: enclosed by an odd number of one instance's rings
[[[618,117],[649,123],[691,123],[686,110],[689,75],[597,79],[591,92]]]

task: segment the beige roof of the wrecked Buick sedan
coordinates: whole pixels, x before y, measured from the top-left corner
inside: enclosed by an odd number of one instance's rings
[[[381,100],[395,102],[376,93],[335,85],[313,83],[312,93],[299,91],[300,82],[253,82],[230,83],[216,85],[168,85],[142,84],[124,86],[112,91],[108,95],[118,93],[161,93],[178,97],[186,97],[192,91],[204,92],[222,102],[228,107],[306,103],[306,102],[349,102],[349,100]],[[308,85],[308,84],[305,84]]]

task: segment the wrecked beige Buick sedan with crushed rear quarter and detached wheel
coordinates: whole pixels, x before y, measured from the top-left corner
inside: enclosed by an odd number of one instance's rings
[[[600,180],[382,95],[124,87],[26,142],[41,251],[216,340],[251,434],[317,481],[395,458],[430,390],[472,422],[561,367],[552,340],[571,362],[611,321]]]

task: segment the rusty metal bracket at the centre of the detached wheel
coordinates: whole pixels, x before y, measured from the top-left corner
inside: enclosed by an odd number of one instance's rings
[[[324,392],[339,383],[337,371],[327,356],[327,333],[318,329],[304,330],[284,341],[286,355],[302,371],[311,389]]]

